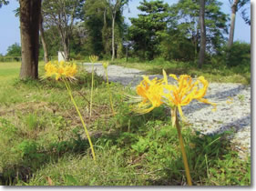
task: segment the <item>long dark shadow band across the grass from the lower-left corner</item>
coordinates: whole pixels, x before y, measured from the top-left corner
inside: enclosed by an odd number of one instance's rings
[[[139,132],[138,127],[142,126],[148,118],[162,117],[162,112],[160,109],[159,112],[156,111],[146,116],[128,116],[129,119],[125,115],[122,116],[123,119],[117,116],[119,118],[119,121],[117,119],[117,123],[126,123],[129,121],[129,125],[119,126],[119,128],[111,132],[95,132],[91,135],[92,142],[96,149],[97,147],[106,146],[106,144],[113,146],[118,143],[118,137],[122,136],[124,132],[132,131],[136,134]],[[142,129],[143,127],[140,130]],[[91,156],[88,140],[81,130],[83,130],[82,127],[78,130],[77,128],[73,130],[74,138],[48,143],[46,147],[41,147],[35,140],[30,139],[23,141],[19,146],[15,146],[17,148],[13,152],[20,153],[20,159],[15,164],[2,166],[3,173],[0,174],[0,183],[4,186],[15,186],[15,183],[20,180],[26,183],[42,166],[46,166],[48,163],[57,163],[61,157],[68,154]]]

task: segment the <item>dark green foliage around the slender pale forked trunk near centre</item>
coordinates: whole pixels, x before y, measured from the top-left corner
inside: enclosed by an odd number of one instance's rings
[[[122,6],[118,7],[115,25],[115,43],[122,43],[124,18]],[[89,0],[84,5],[84,25],[88,31],[84,52],[86,55],[110,55],[111,52],[111,10],[106,1]]]

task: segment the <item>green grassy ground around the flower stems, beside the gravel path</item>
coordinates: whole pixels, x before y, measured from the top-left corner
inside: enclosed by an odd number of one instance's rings
[[[133,116],[110,84],[95,76],[89,120],[91,75],[80,70],[74,97],[95,146],[97,165],[64,84],[20,81],[18,63],[0,63],[0,185],[5,186],[183,186],[185,172],[176,128],[164,107]],[[39,65],[43,74],[43,63]],[[250,186],[251,157],[241,159],[227,138],[203,136],[183,126],[193,185]]]

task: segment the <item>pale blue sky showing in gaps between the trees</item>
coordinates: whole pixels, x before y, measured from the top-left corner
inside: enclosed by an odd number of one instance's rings
[[[131,0],[128,8],[124,11],[126,22],[129,23],[128,17],[137,17],[139,10],[137,9],[141,0]],[[225,14],[230,15],[230,3],[229,0],[219,0],[223,3],[221,10]],[[252,0],[251,2],[255,3]],[[175,4],[178,0],[164,0],[169,5]],[[19,19],[15,17],[14,10],[18,7],[18,2],[10,0],[9,5],[4,5],[0,8],[0,54],[5,55],[8,46],[18,43],[20,45],[20,31],[19,31]],[[248,5],[250,7],[250,5]],[[251,42],[251,26],[246,25],[241,18],[241,14],[237,14],[235,24],[234,40],[240,40],[242,42]]]

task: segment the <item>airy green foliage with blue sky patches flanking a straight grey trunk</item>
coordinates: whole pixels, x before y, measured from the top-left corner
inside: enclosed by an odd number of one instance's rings
[[[207,34],[207,49],[210,53],[219,50],[225,42],[224,34],[228,34],[228,15],[220,11],[220,3],[217,0],[206,0],[205,25]],[[187,37],[194,45],[195,56],[199,52],[200,45],[200,4],[199,0],[179,0],[170,7],[171,29],[179,29],[179,33]]]

